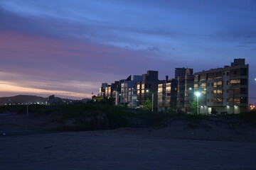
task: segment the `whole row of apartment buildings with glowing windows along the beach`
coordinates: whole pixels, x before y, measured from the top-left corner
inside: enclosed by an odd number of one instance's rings
[[[166,76],[159,80],[158,71],[147,71],[112,84],[103,83],[98,96],[129,108],[143,107],[149,99],[154,111],[186,113],[191,113],[191,102],[196,99],[199,113],[240,113],[248,106],[248,69],[245,59],[235,59],[229,66],[196,73],[176,68],[172,79]]]

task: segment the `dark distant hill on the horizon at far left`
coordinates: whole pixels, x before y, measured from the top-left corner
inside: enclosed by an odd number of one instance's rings
[[[4,105],[6,103],[45,103],[46,100],[47,98],[43,98],[40,96],[18,95],[0,98],[0,105]]]

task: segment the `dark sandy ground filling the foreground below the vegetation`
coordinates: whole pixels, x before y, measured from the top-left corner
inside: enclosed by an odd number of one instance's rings
[[[191,130],[178,122],[159,130],[46,132],[23,119],[0,115],[1,170],[256,169],[254,130]]]

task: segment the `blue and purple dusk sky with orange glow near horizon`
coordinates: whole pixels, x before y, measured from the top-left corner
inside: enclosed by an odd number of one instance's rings
[[[0,97],[87,98],[131,74],[245,58],[255,103],[255,18],[253,0],[0,0]]]

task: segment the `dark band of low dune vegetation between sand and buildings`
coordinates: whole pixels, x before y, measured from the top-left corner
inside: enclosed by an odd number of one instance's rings
[[[186,113],[151,112],[151,102],[138,110],[100,103],[76,103],[68,106],[30,105],[30,115],[48,116],[52,122],[60,123],[58,130],[103,130],[122,127],[163,128],[174,120],[184,120],[188,128],[205,127],[211,130],[206,122],[227,123],[230,129],[238,128],[242,123],[256,125],[256,111],[225,115],[194,115]],[[1,106],[0,113],[15,112],[26,114],[26,106]]]

